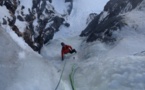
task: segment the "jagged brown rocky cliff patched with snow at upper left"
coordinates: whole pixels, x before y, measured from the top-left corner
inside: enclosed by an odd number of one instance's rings
[[[1,0],[0,7],[6,7],[11,16],[5,16],[1,24],[10,26],[33,50],[40,52],[43,44],[53,38],[61,25],[69,26],[65,16],[71,13],[73,1],[65,0],[68,10],[63,15],[52,6],[53,0],[30,0],[30,5],[23,2],[24,0]]]

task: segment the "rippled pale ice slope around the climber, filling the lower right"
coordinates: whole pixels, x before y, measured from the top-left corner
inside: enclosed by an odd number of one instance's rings
[[[62,70],[64,62],[61,61],[60,42],[63,40],[78,51],[76,55],[66,55],[63,81],[69,81],[67,77],[72,66],[76,65],[74,77],[78,90],[144,90],[145,56],[134,54],[145,49],[145,36],[126,29],[114,46],[100,42],[86,44],[79,37],[57,39],[44,46],[42,56],[49,58],[58,71]]]

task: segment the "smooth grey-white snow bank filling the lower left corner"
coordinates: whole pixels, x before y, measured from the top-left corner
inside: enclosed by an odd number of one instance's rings
[[[0,28],[0,89],[54,90],[59,79],[54,66],[9,27],[5,29]]]

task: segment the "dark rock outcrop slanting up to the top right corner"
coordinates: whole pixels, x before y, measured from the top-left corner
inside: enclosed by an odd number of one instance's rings
[[[100,40],[103,42],[114,41],[112,32],[120,30],[126,25],[119,14],[129,12],[135,9],[143,0],[110,0],[104,7],[104,12],[108,14],[103,18],[101,12],[96,16],[88,26],[82,31],[80,36],[88,36],[87,42]],[[101,19],[101,20],[100,20]]]

